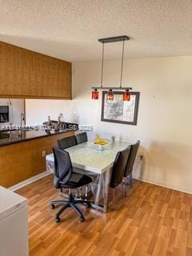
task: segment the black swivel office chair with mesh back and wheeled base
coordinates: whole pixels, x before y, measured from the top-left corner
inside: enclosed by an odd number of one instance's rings
[[[74,172],[74,168],[70,162],[70,154],[65,150],[59,150],[54,147],[54,186],[57,189],[69,189],[68,200],[52,201],[50,206],[54,209],[55,205],[63,205],[62,208],[55,215],[55,222],[60,222],[59,216],[68,207],[72,207],[79,215],[80,222],[84,222],[85,218],[78,209],[78,203],[84,203],[87,207],[90,207],[90,202],[86,198],[75,199],[71,194],[71,189],[78,189],[79,187],[86,186],[92,182],[92,179],[83,174],[77,174]]]

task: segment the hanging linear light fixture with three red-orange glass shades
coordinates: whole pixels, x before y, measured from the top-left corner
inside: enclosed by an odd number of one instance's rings
[[[91,87],[92,91],[92,99],[98,99],[99,92],[98,90],[108,90],[106,94],[106,100],[114,100],[114,91],[113,90],[124,90],[122,94],[122,101],[130,101],[130,90],[131,87],[122,87],[122,70],[123,70],[123,61],[124,61],[124,48],[125,48],[125,41],[129,40],[130,38],[126,35],[113,37],[113,38],[102,38],[98,39],[98,42],[102,42],[102,77],[103,77],[103,62],[104,62],[104,46],[105,43],[108,42],[121,42],[122,41],[122,67],[121,67],[121,76],[120,76],[120,85],[117,86],[110,86],[104,87],[102,86],[102,78],[101,78],[101,86],[94,86]]]

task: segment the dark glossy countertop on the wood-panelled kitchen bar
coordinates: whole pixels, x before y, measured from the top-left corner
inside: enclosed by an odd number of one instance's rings
[[[26,142],[35,138],[43,138],[56,134],[65,134],[73,130],[51,131],[46,133],[45,130],[14,130],[10,132],[0,132],[0,146],[11,145],[19,142]]]

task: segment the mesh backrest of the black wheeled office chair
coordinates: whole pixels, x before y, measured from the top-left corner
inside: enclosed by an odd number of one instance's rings
[[[64,150],[53,148],[54,152],[54,186],[59,188],[60,182],[65,184],[73,174],[73,167],[70,161],[70,154]]]

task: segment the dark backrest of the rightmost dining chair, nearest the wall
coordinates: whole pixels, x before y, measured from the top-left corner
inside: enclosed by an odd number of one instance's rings
[[[140,145],[140,141],[137,141],[135,144],[130,145],[130,155],[126,164],[126,170],[124,173],[124,179],[125,179],[125,183],[126,185],[132,186],[132,171],[133,171],[133,167],[134,167],[134,161],[136,158],[136,155],[138,153],[138,148]]]

